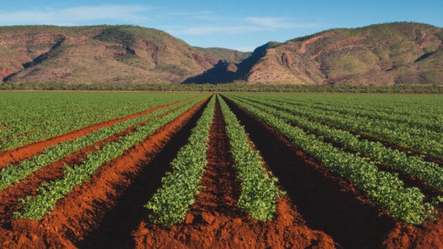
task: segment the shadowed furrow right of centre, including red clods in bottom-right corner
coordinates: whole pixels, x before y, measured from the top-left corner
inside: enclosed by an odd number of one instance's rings
[[[309,227],[327,232],[343,248],[443,248],[442,218],[418,227],[393,220],[351,183],[233,102],[228,104]]]

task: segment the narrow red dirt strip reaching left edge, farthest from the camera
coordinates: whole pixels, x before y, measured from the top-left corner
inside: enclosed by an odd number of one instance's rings
[[[163,109],[165,107],[170,107],[173,104],[177,104],[179,102],[183,102],[186,100],[180,100],[171,104],[164,104],[160,107],[154,107],[152,109],[148,109],[145,111],[141,111],[138,113],[133,113],[129,116],[125,116],[123,118],[117,118],[115,120],[109,120],[106,122],[101,122],[98,124],[93,124],[89,127],[84,127],[82,129],[78,129],[76,131],[71,131],[69,133],[65,133],[61,136],[56,136],[54,138],[48,138],[46,140],[41,140],[39,142],[35,142],[30,145],[25,145],[24,147],[19,147],[17,149],[11,149],[9,151],[0,152],[0,169],[3,167],[6,167],[8,164],[16,164],[21,160],[25,160],[27,158],[31,158],[32,156],[35,156],[35,154],[40,154],[46,147],[50,147],[53,145],[57,145],[60,142],[65,142],[67,140],[73,140],[75,138],[78,138],[80,136],[87,135],[88,133],[91,133],[92,131],[96,131],[98,129],[101,129],[102,127],[110,127],[113,124],[116,124],[118,122],[122,122],[125,120],[129,120],[132,118],[136,118],[138,116],[143,116],[148,113],[152,113],[153,111]]]

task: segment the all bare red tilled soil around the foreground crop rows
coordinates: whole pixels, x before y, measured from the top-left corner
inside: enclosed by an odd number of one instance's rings
[[[277,201],[273,221],[252,221],[237,207],[240,181],[217,103],[210,129],[208,165],[201,179],[204,189],[196,196],[186,221],[168,228],[153,224],[143,205],[161,186],[161,178],[170,170],[179,148],[188,142],[190,130],[207,101],[199,102],[140,145],[100,167],[91,181],[75,187],[41,221],[9,221],[11,203],[17,197],[6,202],[7,208],[3,207],[0,214],[0,247],[443,248],[442,219],[418,227],[395,221],[372,205],[352,183],[321,166],[232,102],[228,102],[230,108],[260,150],[267,169],[279,178],[279,187],[287,192]],[[75,163],[84,156],[82,153],[86,151],[64,161]],[[39,183],[63,174],[62,164],[58,163],[12,189],[30,185],[17,195],[33,194]],[[0,192],[1,205],[6,193]]]

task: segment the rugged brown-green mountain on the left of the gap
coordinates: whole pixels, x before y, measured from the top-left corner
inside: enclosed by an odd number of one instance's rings
[[[3,82],[183,82],[220,60],[238,63],[248,55],[192,47],[138,26],[0,27]]]

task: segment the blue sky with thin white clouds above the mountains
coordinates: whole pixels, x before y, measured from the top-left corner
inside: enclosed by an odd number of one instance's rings
[[[164,30],[192,46],[244,51],[329,28],[392,21],[442,28],[443,0],[7,0],[0,9],[0,26],[134,24]]]

